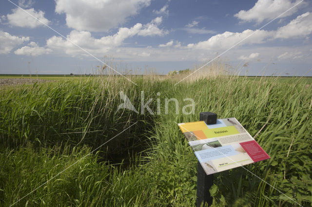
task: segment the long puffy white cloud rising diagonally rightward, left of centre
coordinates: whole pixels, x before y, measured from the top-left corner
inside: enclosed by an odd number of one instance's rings
[[[161,18],[155,18],[150,23],[142,25],[137,23],[132,28],[119,28],[115,35],[103,36],[100,39],[94,38],[90,32],[73,30],[67,35],[67,40],[60,36],[53,36],[47,40],[47,47],[54,51],[65,51],[66,54],[83,54],[76,45],[84,48],[88,52],[102,54],[110,49],[120,46],[123,41],[134,35],[153,36],[163,35],[165,32],[157,27],[161,23]],[[73,43],[72,43],[73,42]],[[143,54],[144,55],[144,54]]]

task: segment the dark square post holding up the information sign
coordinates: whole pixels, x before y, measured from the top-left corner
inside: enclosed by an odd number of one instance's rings
[[[215,124],[217,114],[212,112],[201,112],[199,114],[199,121],[205,121],[206,124]],[[202,204],[212,205],[213,198],[210,195],[209,189],[214,185],[214,174],[207,175],[201,164],[197,163],[197,192],[196,192],[196,206],[200,207]]]

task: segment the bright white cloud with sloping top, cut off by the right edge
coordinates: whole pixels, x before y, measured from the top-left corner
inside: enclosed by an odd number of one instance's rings
[[[312,33],[312,14],[304,13],[287,25],[278,28],[275,38],[302,37]]]

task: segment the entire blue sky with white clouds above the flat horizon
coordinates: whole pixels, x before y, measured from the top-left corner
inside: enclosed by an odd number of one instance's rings
[[[2,0],[0,73],[166,74],[200,66],[300,0]],[[28,14],[27,14],[27,13]],[[31,17],[37,17],[40,21]],[[62,38],[55,31],[67,37]],[[242,74],[312,76],[312,3],[304,0],[221,55]],[[267,66],[267,67],[266,67]],[[239,67],[240,68],[240,67]]]

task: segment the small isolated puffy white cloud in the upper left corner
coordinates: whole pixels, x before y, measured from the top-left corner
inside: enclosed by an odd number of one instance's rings
[[[25,9],[25,11],[30,15],[32,15],[33,17],[22,11],[20,8],[13,9],[12,11],[13,11],[12,14],[7,15],[9,24],[11,24],[12,26],[35,28],[37,26],[43,26],[41,22],[45,24],[49,24],[50,22],[48,19],[44,17],[44,12],[40,10],[36,11],[34,10],[34,8]],[[35,19],[34,17],[39,19],[41,22]]]

